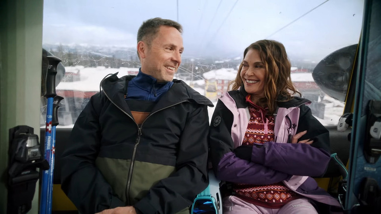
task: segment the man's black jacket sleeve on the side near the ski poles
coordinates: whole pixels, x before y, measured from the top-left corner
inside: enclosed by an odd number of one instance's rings
[[[61,156],[62,190],[80,213],[86,214],[125,206],[95,166],[101,137],[96,110],[99,96],[92,96],[81,112]]]

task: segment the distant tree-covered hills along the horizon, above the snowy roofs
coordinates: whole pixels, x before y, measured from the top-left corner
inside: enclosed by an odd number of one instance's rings
[[[62,60],[63,66],[82,65],[84,67],[105,66],[106,68],[140,67],[135,48],[115,46],[88,46],[67,44],[43,44],[43,48]],[[226,58],[182,57],[178,75],[185,80],[200,80],[202,74],[220,68],[237,69],[242,62],[241,55]],[[306,62],[289,56],[293,67],[312,72],[318,62]]]

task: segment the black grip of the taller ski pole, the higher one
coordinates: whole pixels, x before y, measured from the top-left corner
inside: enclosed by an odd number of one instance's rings
[[[47,56],[48,59],[48,69],[46,73],[46,90],[44,97],[55,97],[56,96],[56,75],[57,66],[61,62],[61,59],[55,56]]]

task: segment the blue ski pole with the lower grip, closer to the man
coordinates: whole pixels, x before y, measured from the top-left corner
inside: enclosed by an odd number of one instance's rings
[[[61,96],[55,96],[53,98],[53,114],[52,114],[52,145],[50,152],[49,161],[49,172],[48,172],[48,185],[47,185],[47,202],[46,202],[46,214],[52,213],[52,200],[53,200],[53,175],[54,175],[54,156],[56,149],[56,127],[58,126],[58,108],[60,107],[60,102],[63,100]]]

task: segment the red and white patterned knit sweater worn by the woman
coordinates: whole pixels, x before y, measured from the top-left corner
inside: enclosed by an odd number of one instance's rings
[[[266,110],[249,103],[250,120],[242,145],[264,144],[274,141],[274,117],[266,115]],[[288,189],[282,182],[271,185],[233,184],[235,196],[258,206],[278,209],[291,200],[299,198],[298,194]]]

